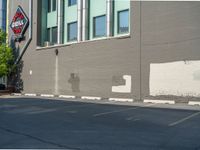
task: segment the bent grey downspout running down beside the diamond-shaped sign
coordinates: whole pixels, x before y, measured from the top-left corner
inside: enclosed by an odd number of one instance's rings
[[[24,47],[22,48],[22,53],[21,55],[17,58],[15,61],[15,64],[18,64],[19,61],[21,60],[22,56],[24,55],[26,49],[28,48],[29,44],[31,43],[32,40],[32,14],[33,14],[33,0],[29,0],[29,37],[28,41],[25,43]]]

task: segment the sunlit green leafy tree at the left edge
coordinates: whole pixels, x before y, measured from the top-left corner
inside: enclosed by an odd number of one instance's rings
[[[0,29],[0,77],[8,76],[14,69],[12,48],[6,44],[6,33]]]

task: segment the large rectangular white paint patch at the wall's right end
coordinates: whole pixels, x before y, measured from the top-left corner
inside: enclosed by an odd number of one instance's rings
[[[150,95],[200,96],[200,61],[150,65]]]

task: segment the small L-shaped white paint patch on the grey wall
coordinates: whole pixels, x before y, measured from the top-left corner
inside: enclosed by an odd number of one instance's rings
[[[114,93],[131,93],[131,76],[124,75],[125,85],[112,86],[112,92]]]

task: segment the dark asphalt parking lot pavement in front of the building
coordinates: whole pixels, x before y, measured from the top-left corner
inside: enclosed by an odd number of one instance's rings
[[[200,107],[0,99],[0,148],[200,150]]]

